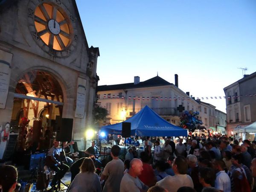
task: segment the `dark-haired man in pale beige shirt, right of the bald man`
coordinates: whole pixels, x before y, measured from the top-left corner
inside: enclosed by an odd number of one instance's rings
[[[194,188],[193,181],[189,175],[186,175],[188,163],[185,157],[177,156],[172,163],[172,169],[175,176],[168,176],[157,182],[157,185],[167,189],[168,192],[177,192],[182,186]]]

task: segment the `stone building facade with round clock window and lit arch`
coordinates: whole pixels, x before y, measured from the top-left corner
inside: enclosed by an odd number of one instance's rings
[[[25,149],[20,134],[31,129],[47,148],[58,119],[73,119],[72,139],[83,149],[98,56],[99,48],[87,44],[75,0],[0,0],[0,131],[10,122]]]

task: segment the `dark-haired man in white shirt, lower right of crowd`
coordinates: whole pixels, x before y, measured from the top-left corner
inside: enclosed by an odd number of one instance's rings
[[[223,160],[215,160],[213,163],[213,169],[215,169],[216,179],[215,188],[220,192],[230,192],[231,191],[231,181],[230,177],[225,173],[225,163]]]

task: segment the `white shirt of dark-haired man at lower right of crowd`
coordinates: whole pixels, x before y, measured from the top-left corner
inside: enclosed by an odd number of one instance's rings
[[[231,191],[230,177],[224,171],[216,173],[215,188],[223,192]]]

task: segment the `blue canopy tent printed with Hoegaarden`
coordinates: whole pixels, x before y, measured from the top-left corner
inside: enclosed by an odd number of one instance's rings
[[[187,130],[164,120],[147,105],[139,113],[124,122],[131,122],[131,135],[137,136],[187,136]],[[122,134],[122,122],[101,128],[109,134]]]

